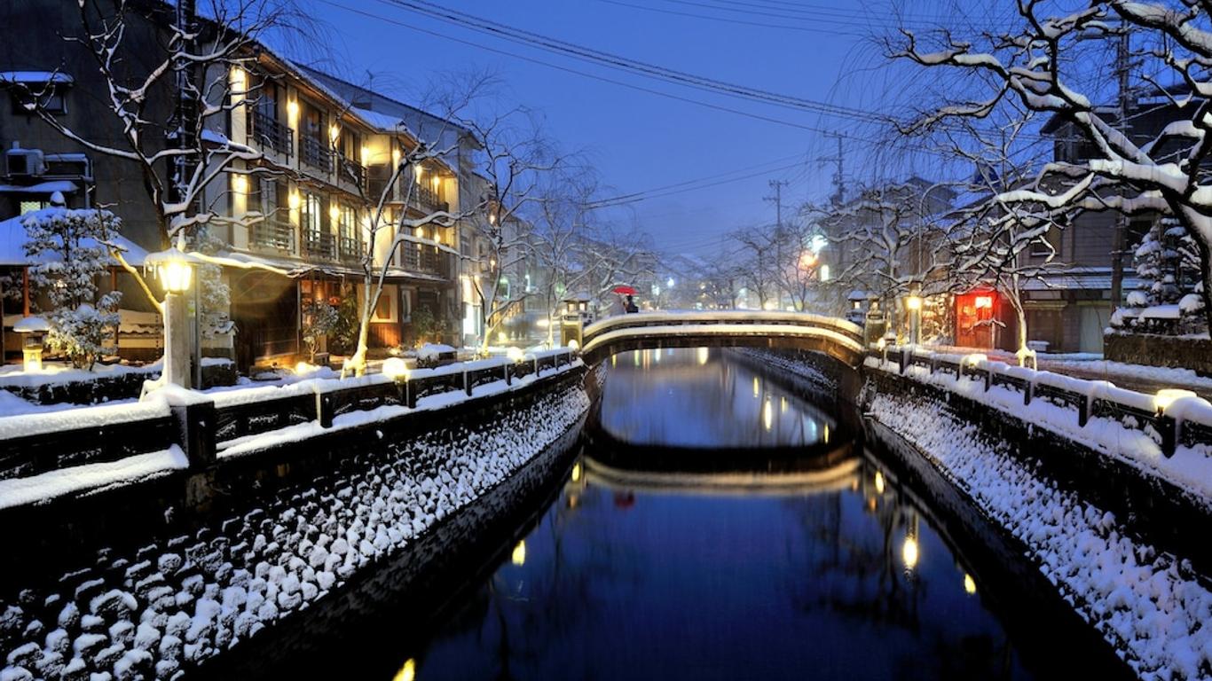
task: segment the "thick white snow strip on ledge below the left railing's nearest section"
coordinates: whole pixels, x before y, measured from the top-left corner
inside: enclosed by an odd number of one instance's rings
[[[85,490],[99,492],[185,468],[189,468],[189,458],[181,447],[172,445],[162,452],[137,454],[116,462],[91,463],[29,477],[0,480],[0,509],[48,502]]]

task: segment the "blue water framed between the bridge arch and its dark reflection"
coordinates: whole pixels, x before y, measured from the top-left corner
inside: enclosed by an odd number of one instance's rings
[[[710,361],[720,353],[616,355],[602,389],[601,428],[631,445],[668,447],[807,446],[825,439],[831,417],[744,365]]]

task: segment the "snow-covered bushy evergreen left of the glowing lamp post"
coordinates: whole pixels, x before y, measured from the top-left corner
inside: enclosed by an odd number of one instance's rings
[[[97,279],[109,267],[105,245],[118,233],[120,221],[109,211],[44,208],[29,213],[25,254],[32,287],[45,294],[51,309],[44,314],[51,330],[46,344],[62,353],[78,368],[92,370],[102,355],[113,350],[121,292],[98,297]]]

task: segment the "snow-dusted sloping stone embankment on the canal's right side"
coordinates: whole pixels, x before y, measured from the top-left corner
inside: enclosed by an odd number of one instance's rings
[[[1148,680],[1207,679],[1212,593],[1190,565],[1126,536],[1115,517],[1057,490],[942,405],[876,395],[871,414],[916,445],[1029,550],[1077,613]]]

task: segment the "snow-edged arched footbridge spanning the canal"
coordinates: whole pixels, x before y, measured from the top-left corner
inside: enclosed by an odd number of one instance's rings
[[[863,331],[846,320],[805,313],[639,313],[587,326],[581,355],[587,365],[594,365],[625,350],[702,347],[814,350],[858,366]]]

